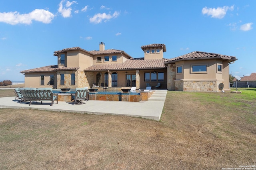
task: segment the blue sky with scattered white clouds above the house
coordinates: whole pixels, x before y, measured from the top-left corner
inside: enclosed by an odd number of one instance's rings
[[[192,51],[236,56],[232,75],[256,72],[255,0],[1,0],[0,81],[24,81],[22,70],[56,65],[68,47],[123,50],[164,43],[164,58]]]

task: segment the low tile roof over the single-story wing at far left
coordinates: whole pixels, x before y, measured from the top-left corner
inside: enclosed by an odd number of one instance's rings
[[[45,67],[39,67],[35,69],[28,69],[24,71],[20,71],[20,73],[37,73],[37,72],[54,72],[54,71],[64,71],[64,70],[78,70],[79,67],[60,67],[58,65],[49,65]]]

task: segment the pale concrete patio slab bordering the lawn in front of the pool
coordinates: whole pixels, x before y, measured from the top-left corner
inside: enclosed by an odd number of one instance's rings
[[[158,91],[158,90],[156,90]],[[161,93],[167,93],[167,90],[160,90]],[[153,97],[153,96],[152,96]],[[28,105],[29,102],[21,102],[15,100],[15,97],[2,97],[0,98],[0,108],[12,108],[12,109],[38,109],[46,111],[62,111],[73,113],[87,113],[96,115],[126,115],[133,117],[142,117],[146,119],[160,120],[162,110],[164,107],[164,100],[161,101],[140,101],[140,102],[125,102],[125,101],[85,101],[83,105],[74,105],[73,102],[61,102],[58,104],[56,101],[53,106],[50,106],[50,102],[43,101],[33,102],[32,105]]]

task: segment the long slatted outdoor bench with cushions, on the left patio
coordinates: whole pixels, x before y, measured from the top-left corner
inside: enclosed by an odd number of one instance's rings
[[[29,106],[33,101],[51,101],[51,106],[54,100],[57,100],[58,104],[58,94],[54,94],[52,92],[52,88],[24,88],[20,89],[20,93],[22,94],[21,101],[29,101]]]

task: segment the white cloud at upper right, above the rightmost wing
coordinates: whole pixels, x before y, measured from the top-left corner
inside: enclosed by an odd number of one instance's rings
[[[234,5],[232,6],[223,6],[223,7],[218,7],[218,8],[208,8],[204,7],[202,9],[202,14],[207,14],[208,16],[211,16],[211,18],[218,18],[222,19],[228,10],[234,10]]]

